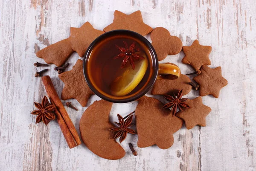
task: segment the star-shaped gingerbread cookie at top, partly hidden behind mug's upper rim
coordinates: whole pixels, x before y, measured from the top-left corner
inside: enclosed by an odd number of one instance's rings
[[[134,13],[126,15],[116,10],[114,12],[113,23],[106,26],[103,30],[105,32],[109,32],[116,29],[131,30],[143,36],[152,32],[152,28],[143,22],[140,11],[136,11]]]

